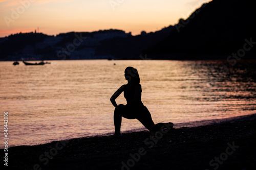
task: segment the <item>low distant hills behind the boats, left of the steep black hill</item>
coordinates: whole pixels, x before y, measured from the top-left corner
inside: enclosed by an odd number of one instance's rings
[[[113,29],[56,36],[19,33],[0,38],[0,61],[138,59],[141,50],[163,40],[172,29],[173,26],[169,26],[155,33],[142,32],[138,36]]]

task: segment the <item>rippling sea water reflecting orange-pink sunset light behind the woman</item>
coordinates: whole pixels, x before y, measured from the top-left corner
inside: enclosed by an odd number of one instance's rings
[[[255,61],[234,66],[226,61],[80,60],[42,66],[0,62],[0,107],[9,112],[10,145],[113,133],[109,99],[126,83],[127,66],[139,71],[142,102],[155,123],[256,113]],[[122,94],[117,103],[125,103]],[[122,131],[139,128],[143,126],[138,120],[122,121]]]

